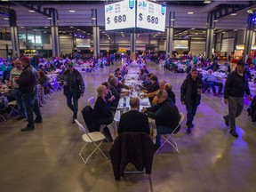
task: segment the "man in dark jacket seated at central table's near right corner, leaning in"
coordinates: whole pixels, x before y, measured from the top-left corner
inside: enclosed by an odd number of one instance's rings
[[[156,121],[156,148],[161,146],[161,134],[171,134],[180,121],[180,113],[173,101],[168,98],[165,90],[156,94],[157,105],[151,108],[142,108],[141,112],[148,114],[149,118]]]

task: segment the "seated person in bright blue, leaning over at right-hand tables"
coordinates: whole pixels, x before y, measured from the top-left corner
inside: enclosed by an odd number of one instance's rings
[[[208,86],[212,87],[212,92],[214,94],[214,96],[220,95],[223,89],[223,84],[221,81],[219,81],[217,79],[216,76],[212,75],[212,69],[208,70],[208,74],[205,74],[203,76],[203,81],[206,81],[206,83],[208,84]],[[215,86],[219,87],[219,91],[218,93],[216,93],[216,88]]]

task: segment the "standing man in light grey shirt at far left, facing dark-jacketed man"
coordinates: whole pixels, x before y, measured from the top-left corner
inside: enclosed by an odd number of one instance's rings
[[[20,60],[14,60],[14,66],[15,68],[12,68],[11,74],[10,74],[10,81],[12,84],[12,94],[15,100],[17,101],[17,104],[19,106],[20,116],[16,118],[16,120],[27,118],[24,103],[22,100],[22,92],[20,92],[19,84],[16,83],[15,77],[20,77],[20,74],[22,72],[22,65]]]

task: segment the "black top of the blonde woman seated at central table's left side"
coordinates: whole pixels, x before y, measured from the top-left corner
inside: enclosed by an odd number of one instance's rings
[[[108,108],[108,102],[103,100],[102,97],[97,98],[93,108],[92,116],[95,120],[112,116]]]

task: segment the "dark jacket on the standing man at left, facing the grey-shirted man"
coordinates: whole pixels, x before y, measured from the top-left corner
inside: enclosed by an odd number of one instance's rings
[[[20,79],[17,81],[19,84],[20,92],[33,92],[34,87],[37,84],[37,72],[36,69],[28,65],[22,69]]]

